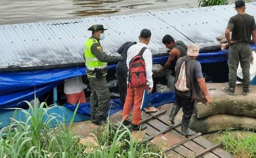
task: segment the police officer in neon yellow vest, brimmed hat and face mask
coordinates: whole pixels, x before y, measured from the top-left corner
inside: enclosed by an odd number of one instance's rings
[[[109,56],[103,51],[100,40],[104,39],[104,31],[107,30],[103,25],[93,25],[88,30],[92,31],[92,36],[85,42],[84,57],[86,74],[91,88],[91,121],[96,125],[102,125],[106,122],[110,98],[106,80],[107,63],[123,61],[123,57]]]

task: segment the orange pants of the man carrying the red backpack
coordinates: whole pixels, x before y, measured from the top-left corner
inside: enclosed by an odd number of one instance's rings
[[[127,88],[127,95],[125,98],[125,103],[123,106],[122,117],[124,120],[128,120],[128,115],[131,112],[131,107],[133,105],[133,125],[139,125],[141,123],[141,104],[144,90],[147,88],[146,85],[140,87],[131,87]]]

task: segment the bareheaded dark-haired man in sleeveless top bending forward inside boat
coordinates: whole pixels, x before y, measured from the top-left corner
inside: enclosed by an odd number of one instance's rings
[[[172,75],[175,75],[175,65],[176,61],[183,56],[187,55],[188,46],[182,41],[174,41],[173,37],[170,35],[165,35],[162,39],[162,43],[166,46],[169,52],[169,58],[161,70],[161,73],[165,73],[167,69],[172,70]]]

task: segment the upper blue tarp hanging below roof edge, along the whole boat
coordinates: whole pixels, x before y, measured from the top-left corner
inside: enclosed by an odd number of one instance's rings
[[[165,63],[168,56],[153,58],[153,64]],[[222,51],[200,53],[200,63],[227,61]],[[109,65],[114,70],[116,65]],[[0,73],[0,108],[17,107],[24,100],[33,100],[49,92],[64,79],[85,74],[85,67],[25,70]]]

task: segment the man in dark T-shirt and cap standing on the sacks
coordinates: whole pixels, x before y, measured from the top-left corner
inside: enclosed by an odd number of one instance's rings
[[[247,95],[250,93],[250,41],[252,35],[252,40],[256,45],[256,23],[253,16],[245,13],[246,7],[243,0],[235,2],[235,9],[237,14],[229,19],[225,31],[225,37],[230,45],[228,54],[229,87],[222,87],[222,90],[230,95],[235,95],[237,67],[240,62],[243,75],[242,94]],[[230,32],[232,32],[231,38]]]

